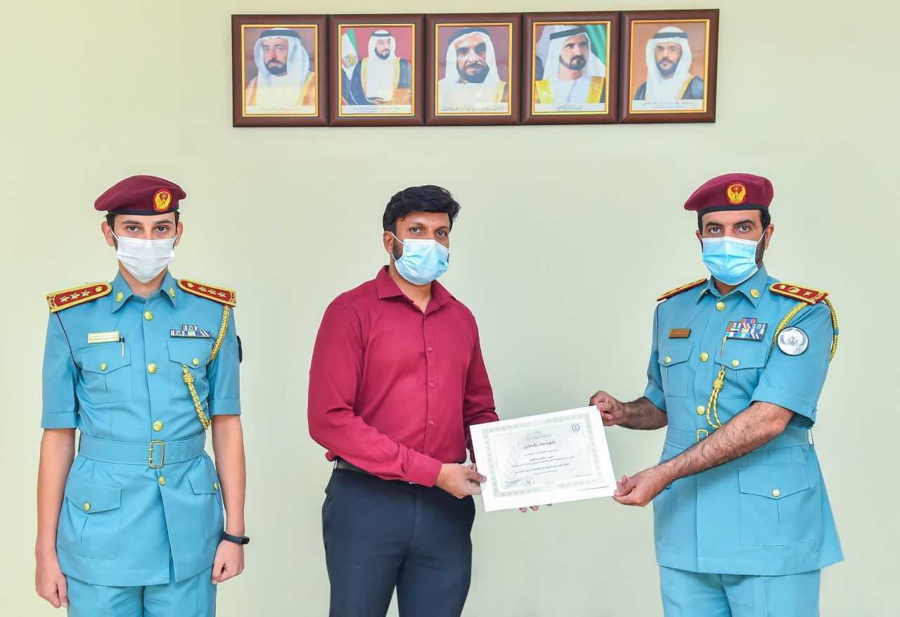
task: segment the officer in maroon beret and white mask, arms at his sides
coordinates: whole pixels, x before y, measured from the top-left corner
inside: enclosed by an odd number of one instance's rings
[[[69,615],[212,615],[244,567],[235,293],[168,272],[184,196],[112,186],[94,207],[119,273],[47,296],[35,585]]]

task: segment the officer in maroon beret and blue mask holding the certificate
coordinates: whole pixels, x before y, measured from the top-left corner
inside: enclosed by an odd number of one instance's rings
[[[728,174],[690,196],[712,277],[659,298],[644,396],[590,399],[607,425],[668,425],[660,464],[615,499],[653,500],[671,617],[817,615],[820,570],[842,560],[810,433],[837,319],[825,292],[762,265],[772,195],[764,177]]]

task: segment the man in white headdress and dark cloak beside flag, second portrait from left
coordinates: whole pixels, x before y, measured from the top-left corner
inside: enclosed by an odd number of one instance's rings
[[[388,29],[372,31],[365,43],[365,57],[356,49],[357,28],[342,28],[341,34],[341,112],[412,113],[412,26],[404,37],[405,50],[398,53],[397,39]],[[363,108],[360,108],[363,106]],[[372,109],[377,107],[376,110]]]

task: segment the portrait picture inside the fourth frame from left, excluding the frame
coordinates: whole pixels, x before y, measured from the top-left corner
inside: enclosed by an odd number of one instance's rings
[[[535,113],[606,110],[607,67],[598,53],[606,59],[607,50],[597,49],[600,40],[607,40],[605,23],[544,27],[535,50]]]

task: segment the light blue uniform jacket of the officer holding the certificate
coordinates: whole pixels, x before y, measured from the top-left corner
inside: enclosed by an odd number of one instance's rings
[[[825,304],[814,304],[798,313],[788,327],[806,332],[808,348],[788,355],[772,341],[779,322],[798,301],[771,292],[777,282],[761,268],[724,297],[710,279],[657,306],[644,396],[668,415],[662,460],[678,456],[706,431],[715,431],[706,411],[723,365],[725,386],[717,403],[721,423],[754,401],[795,413],[788,429],[770,443],[725,465],[680,478],[653,500],[661,566],[788,575],[843,558],[809,437],[831,355],[831,312]],[[744,319],[755,333],[758,324],[767,324],[761,340],[727,339],[723,348],[729,324]],[[679,329],[690,329],[689,336],[673,338]]]

